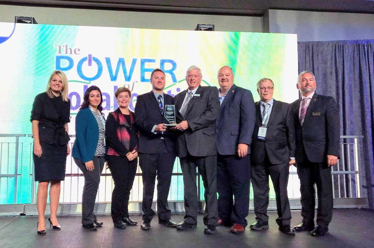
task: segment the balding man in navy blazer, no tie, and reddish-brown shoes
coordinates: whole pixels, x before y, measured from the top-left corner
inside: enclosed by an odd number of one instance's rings
[[[232,68],[218,71],[220,115],[216,124],[218,224],[241,233],[249,209],[250,145],[255,125],[255,105],[249,90],[234,84]],[[233,195],[235,202],[233,204]]]

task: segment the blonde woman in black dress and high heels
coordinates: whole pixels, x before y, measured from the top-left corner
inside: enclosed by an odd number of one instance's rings
[[[39,182],[36,206],[39,214],[37,233],[46,234],[44,213],[49,189],[50,217],[53,230],[60,230],[56,213],[61,181],[65,179],[66,156],[70,154],[68,122],[70,100],[68,81],[62,71],[53,71],[45,92],[38,94],[31,110],[34,138],[35,181]]]

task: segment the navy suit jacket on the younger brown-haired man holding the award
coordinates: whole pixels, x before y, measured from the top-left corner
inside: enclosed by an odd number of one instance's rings
[[[164,112],[165,105],[172,104],[173,97],[164,93]],[[137,104],[135,105],[135,123],[140,131],[138,152],[155,154],[159,139],[163,136],[168,151],[175,153],[175,137],[169,128],[163,134],[151,132],[154,125],[169,123],[165,116],[161,114],[159,103],[152,91],[138,96]]]

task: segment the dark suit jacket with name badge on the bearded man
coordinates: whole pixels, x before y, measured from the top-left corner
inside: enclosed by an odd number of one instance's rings
[[[308,106],[303,127],[300,125],[301,99],[291,103],[295,123],[296,163],[305,155],[310,162],[322,163],[327,155],[339,157],[340,125],[335,99],[314,93]]]

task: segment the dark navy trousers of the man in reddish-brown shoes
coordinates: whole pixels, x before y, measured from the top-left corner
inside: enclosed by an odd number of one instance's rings
[[[249,209],[250,178],[249,155],[243,158],[237,155],[217,156],[218,217],[225,223],[247,226],[245,217]]]

